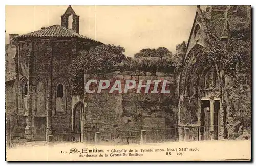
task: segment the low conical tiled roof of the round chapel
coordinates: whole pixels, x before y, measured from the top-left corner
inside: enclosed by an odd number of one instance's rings
[[[82,39],[93,40],[89,37],[80,35],[72,30],[66,29],[66,27],[60,25],[53,25],[45,27],[41,30],[30,32],[24,35],[15,36],[13,39],[16,40],[22,37],[77,37]],[[95,40],[93,40],[95,41]]]

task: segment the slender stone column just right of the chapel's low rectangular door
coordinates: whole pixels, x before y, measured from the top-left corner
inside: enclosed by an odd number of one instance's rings
[[[49,57],[49,81],[47,84],[47,126],[46,141],[51,141],[52,137],[52,46],[47,43],[47,56]]]

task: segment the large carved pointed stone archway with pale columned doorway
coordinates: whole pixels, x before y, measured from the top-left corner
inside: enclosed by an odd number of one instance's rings
[[[199,127],[195,140],[217,139],[220,131],[220,88],[215,62],[195,45],[187,54],[179,80],[179,126]],[[185,132],[185,131],[183,131]],[[181,134],[180,134],[181,133]],[[179,135],[182,137],[182,132]],[[194,138],[193,138],[194,139]],[[182,139],[181,139],[182,140]]]

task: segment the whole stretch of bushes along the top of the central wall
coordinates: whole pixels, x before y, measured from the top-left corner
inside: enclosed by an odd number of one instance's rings
[[[172,52],[164,47],[157,49],[156,57],[131,58],[122,52],[124,48],[114,45],[99,45],[89,51],[78,53],[71,63],[71,84],[73,94],[83,94],[84,74],[104,74],[114,71],[176,72],[177,62]],[[145,52],[145,51],[142,51]]]

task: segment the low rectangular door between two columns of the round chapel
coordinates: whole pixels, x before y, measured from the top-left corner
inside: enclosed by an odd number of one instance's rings
[[[35,134],[34,139],[46,140],[46,117],[34,117]]]

